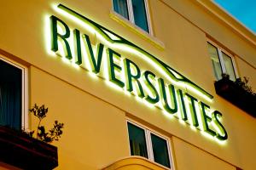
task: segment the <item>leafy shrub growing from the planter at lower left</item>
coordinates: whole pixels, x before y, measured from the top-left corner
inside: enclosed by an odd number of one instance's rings
[[[63,133],[62,128],[64,127],[64,123],[55,121],[53,127],[49,129],[47,132],[44,126],[41,126],[41,122],[44,117],[46,117],[48,113],[48,108],[44,105],[38,106],[35,104],[32,109],[29,110],[33,113],[34,116],[38,117],[38,127],[36,133],[36,139],[42,140],[46,143],[51,143],[54,140],[59,140],[61,138],[61,134]],[[35,131],[28,132],[28,134],[32,137]]]

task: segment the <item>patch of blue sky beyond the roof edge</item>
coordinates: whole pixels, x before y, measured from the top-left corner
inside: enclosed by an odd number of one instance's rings
[[[214,0],[256,33],[256,0]]]

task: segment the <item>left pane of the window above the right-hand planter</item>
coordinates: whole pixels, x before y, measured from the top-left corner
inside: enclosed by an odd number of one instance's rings
[[[210,54],[210,57],[212,59],[212,68],[214,72],[214,76],[216,80],[220,80],[222,78],[222,70],[221,65],[218,59],[218,49],[212,46],[211,43],[208,42],[208,53]]]

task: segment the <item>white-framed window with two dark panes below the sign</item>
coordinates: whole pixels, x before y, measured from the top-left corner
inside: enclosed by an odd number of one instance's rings
[[[168,139],[128,122],[131,156],[143,156],[171,168]]]

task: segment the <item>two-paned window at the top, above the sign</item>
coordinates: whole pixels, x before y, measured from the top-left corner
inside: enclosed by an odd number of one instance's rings
[[[113,0],[113,10],[144,31],[151,33],[147,0]]]

